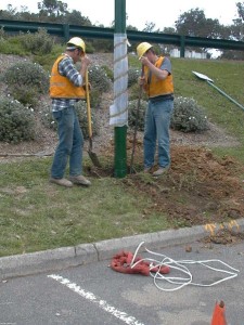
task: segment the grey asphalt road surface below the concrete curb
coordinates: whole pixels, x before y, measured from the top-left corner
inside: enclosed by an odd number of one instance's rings
[[[211,263],[232,272],[233,277],[210,286],[230,274],[200,263],[188,264],[192,282],[201,286],[188,284],[180,288],[153,276],[115,272],[108,266],[111,260],[105,260],[54,273],[10,278],[0,284],[0,324],[209,325],[215,302],[223,300],[228,325],[243,325],[243,243],[194,242],[188,248],[171,246],[158,253],[178,262],[217,259],[239,272],[220,262]],[[149,252],[141,256],[155,258]],[[163,260],[162,256],[157,259]],[[169,275],[189,276],[174,268]]]

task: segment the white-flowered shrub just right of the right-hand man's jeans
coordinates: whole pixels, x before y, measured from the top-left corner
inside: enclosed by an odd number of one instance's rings
[[[183,132],[205,131],[208,129],[207,117],[196,101],[188,98],[176,98],[170,127]]]

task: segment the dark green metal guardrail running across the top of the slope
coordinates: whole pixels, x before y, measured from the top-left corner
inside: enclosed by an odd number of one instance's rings
[[[64,40],[68,40],[70,36],[111,40],[114,39],[114,29],[103,27],[0,20],[0,28],[3,28],[5,32],[36,32],[38,28],[44,28],[48,34],[62,37]],[[185,47],[244,51],[243,41],[180,36],[176,34],[145,32],[137,30],[127,30],[126,32],[129,41],[150,41],[155,43],[177,46],[180,48],[181,57],[184,57]]]

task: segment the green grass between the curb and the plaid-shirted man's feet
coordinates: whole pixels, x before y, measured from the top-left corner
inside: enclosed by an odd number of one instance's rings
[[[89,161],[85,161],[89,165]],[[154,232],[164,216],[143,219],[151,200],[123,180],[91,179],[90,187],[48,182],[51,158],[1,164],[0,256]]]

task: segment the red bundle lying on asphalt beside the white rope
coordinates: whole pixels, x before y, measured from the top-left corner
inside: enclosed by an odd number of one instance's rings
[[[131,262],[133,264],[131,265]],[[160,274],[169,273],[170,269],[167,265],[155,265],[152,262],[144,261],[141,257],[133,260],[133,255],[130,251],[120,251],[115,255],[111,262],[111,268],[120,273],[150,275],[150,272],[159,272]]]

